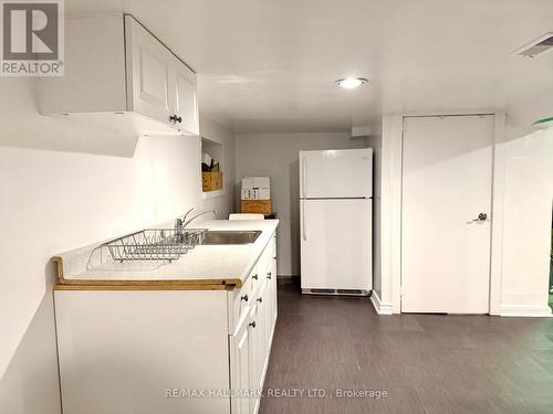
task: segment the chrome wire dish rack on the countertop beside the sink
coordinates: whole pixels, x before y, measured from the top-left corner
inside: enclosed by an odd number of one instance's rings
[[[204,242],[207,229],[146,229],[102,243],[92,256],[111,261],[177,261]],[[107,256],[107,257],[106,257]]]

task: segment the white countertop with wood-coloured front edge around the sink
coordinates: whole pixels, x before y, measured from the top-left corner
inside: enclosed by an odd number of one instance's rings
[[[54,257],[59,265],[60,284],[64,285],[133,285],[140,284],[229,284],[241,286],[274,234],[278,220],[228,221],[206,220],[195,227],[209,230],[262,231],[252,244],[198,245],[174,262],[111,262],[86,268],[87,246]],[[87,257],[88,256],[88,257]],[[60,270],[61,266],[61,270]],[[61,272],[61,274],[60,274]]]

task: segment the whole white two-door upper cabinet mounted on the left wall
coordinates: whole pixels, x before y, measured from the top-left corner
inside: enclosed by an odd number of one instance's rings
[[[63,77],[40,79],[45,115],[133,135],[198,135],[196,74],[131,15],[66,20]]]

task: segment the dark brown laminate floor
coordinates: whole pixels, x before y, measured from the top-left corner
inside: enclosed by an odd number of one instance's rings
[[[268,389],[386,390],[386,399],[263,397],[273,413],[553,413],[553,319],[378,317],[364,298],[281,284]]]

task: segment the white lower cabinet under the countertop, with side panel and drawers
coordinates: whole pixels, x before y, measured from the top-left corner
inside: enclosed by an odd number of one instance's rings
[[[276,321],[272,244],[240,289],[55,290],[63,413],[257,414]]]

